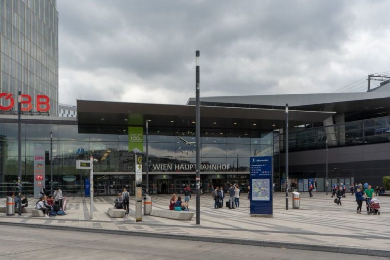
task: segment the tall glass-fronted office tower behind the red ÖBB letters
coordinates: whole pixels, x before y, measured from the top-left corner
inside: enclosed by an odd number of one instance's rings
[[[33,102],[36,95],[47,95],[50,115],[57,116],[56,0],[0,0],[0,52],[0,92],[16,96],[21,90]]]

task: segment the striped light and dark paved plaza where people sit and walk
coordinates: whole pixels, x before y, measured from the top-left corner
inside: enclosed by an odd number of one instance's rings
[[[168,209],[170,196],[152,196],[153,208]],[[309,198],[307,192],[301,193],[300,209],[285,210],[284,193],[275,193],[274,216],[272,218],[250,217],[249,202],[242,194],[240,207],[237,209],[214,209],[210,194],[201,196],[201,225],[191,221],[177,221],[159,217],[143,216],[142,222],[135,222],[134,200],[131,212],[125,218],[110,218],[106,212],[112,207],[115,197],[95,197],[93,216],[90,219],[89,198],[68,197],[67,215],[50,218],[33,218],[31,214],[21,217],[6,216],[0,213],[1,223],[48,225],[90,229],[93,231],[123,231],[132,235],[158,235],[172,238],[200,238],[215,240],[229,239],[233,242],[263,245],[276,243],[280,247],[294,248],[294,245],[306,245],[334,252],[334,248],[353,250],[376,250],[377,255],[390,256],[390,197],[378,197],[381,202],[381,215],[367,215],[365,207],[362,214],[356,214],[357,204],[354,196],[342,199],[342,206],[333,202],[330,195],[314,193]],[[34,201],[33,199],[30,200]],[[5,201],[0,201],[0,206]],[[190,201],[190,210],[194,210],[194,196]],[[1,228],[0,228],[1,229]],[[333,248],[333,249],[332,249]],[[343,251],[345,252],[345,251]]]

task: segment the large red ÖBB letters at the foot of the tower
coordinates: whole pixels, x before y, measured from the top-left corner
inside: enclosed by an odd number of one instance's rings
[[[15,105],[14,96],[10,93],[0,93],[0,99],[8,100],[8,106],[0,105],[0,110],[8,111]],[[29,112],[32,110],[32,98],[30,95],[22,94],[20,102],[22,103],[21,111]],[[50,110],[50,99],[47,95],[37,95],[35,103],[35,108],[38,112],[48,112]]]

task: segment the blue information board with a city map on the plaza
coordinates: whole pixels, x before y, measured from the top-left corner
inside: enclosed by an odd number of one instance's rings
[[[250,157],[250,214],[271,215],[272,157]]]

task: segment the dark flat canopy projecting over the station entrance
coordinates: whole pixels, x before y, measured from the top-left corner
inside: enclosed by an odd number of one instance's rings
[[[201,128],[272,131],[285,110],[201,106]],[[289,110],[290,125],[322,122],[335,112]],[[194,128],[195,106],[77,100],[79,133],[118,134],[126,126]],[[99,127],[96,127],[99,126]]]

